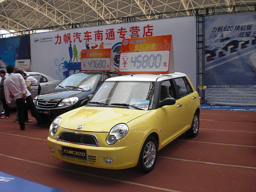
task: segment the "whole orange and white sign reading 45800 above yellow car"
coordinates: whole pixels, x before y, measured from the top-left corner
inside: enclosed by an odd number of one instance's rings
[[[119,73],[131,74],[138,72],[174,73],[172,35],[122,40]]]

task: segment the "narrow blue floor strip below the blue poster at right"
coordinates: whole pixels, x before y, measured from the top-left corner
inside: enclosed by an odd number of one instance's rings
[[[228,106],[201,104],[203,110],[256,111],[256,106]]]

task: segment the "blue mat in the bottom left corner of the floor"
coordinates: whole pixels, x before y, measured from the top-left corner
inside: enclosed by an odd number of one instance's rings
[[[1,192],[64,192],[0,172]]]

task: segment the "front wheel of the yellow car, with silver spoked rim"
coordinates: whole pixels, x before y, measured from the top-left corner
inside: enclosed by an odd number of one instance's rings
[[[154,168],[157,160],[158,143],[155,137],[149,136],[141,149],[136,170],[140,173],[149,173]]]

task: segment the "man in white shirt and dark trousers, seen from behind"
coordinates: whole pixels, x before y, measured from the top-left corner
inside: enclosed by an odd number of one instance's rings
[[[25,102],[28,104],[31,113],[36,118],[37,124],[41,124],[42,120],[40,114],[35,108],[31,93],[27,90],[27,85],[23,76],[19,73],[13,73],[13,70],[13,66],[6,67],[6,71],[9,73],[9,76],[4,81],[5,97],[9,98],[9,92],[11,92],[14,96],[18,112],[20,130],[25,130]],[[6,99],[6,102],[8,105],[11,104],[11,100],[9,99]]]

